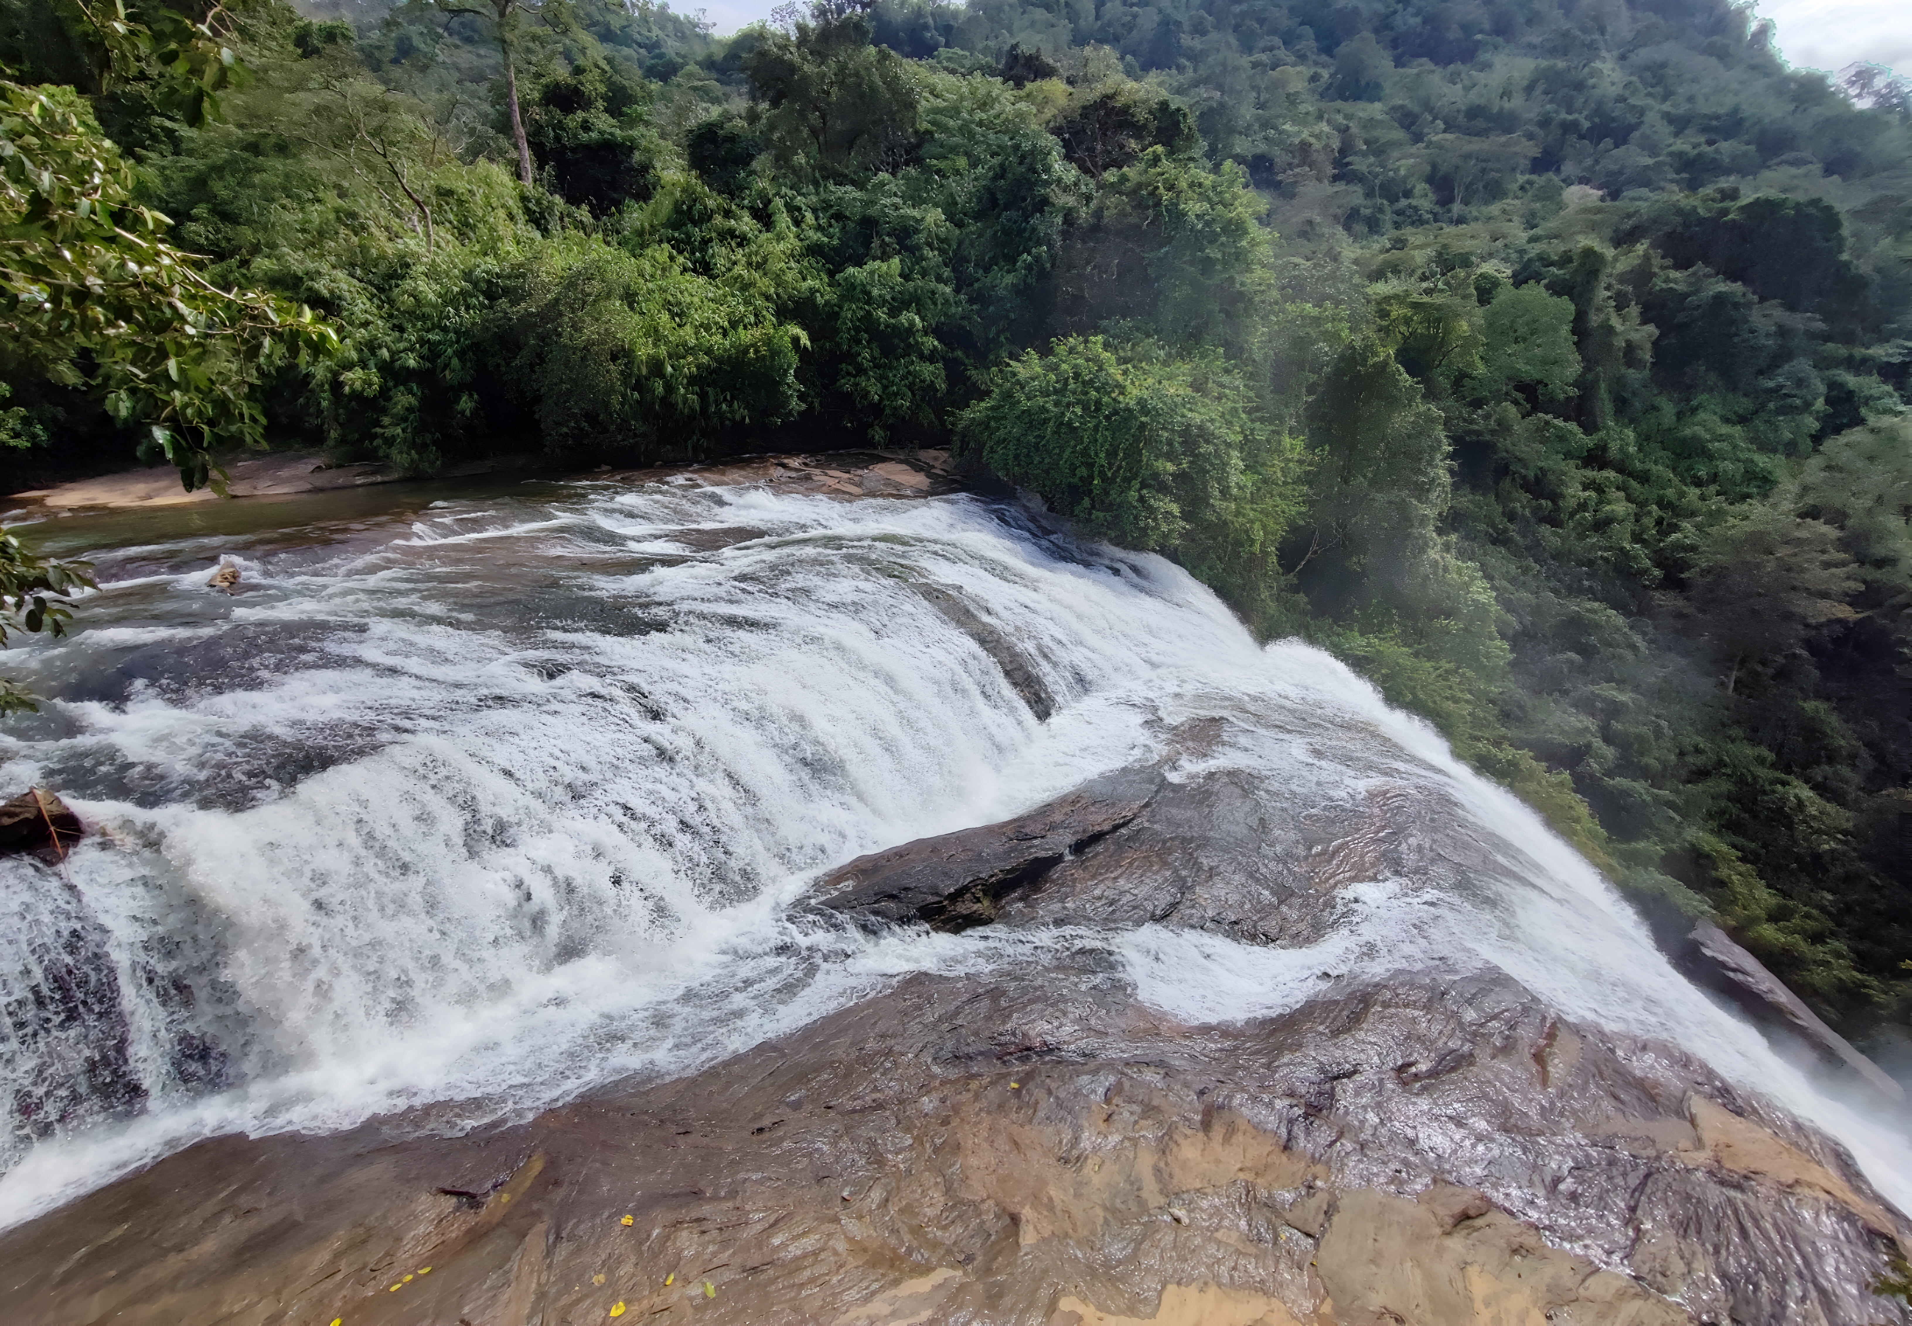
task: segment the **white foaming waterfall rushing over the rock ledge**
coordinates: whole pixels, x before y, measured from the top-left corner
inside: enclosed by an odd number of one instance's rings
[[[220,552],[231,598],[205,587]],[[1912,1198],[1912,1148],[1681,980],[1532,812],[1159,558],[971,499],[587,483],[101,566],[84,629],[15,659],[57,699],[13,720],[0,787],[57,787],[111,833],[63,869],[0,864],[0,1225],[201,1137],[522,1116],[901,973],[1090,942],[1191,1020],[1291,1007],[1323,973],[1501,967],[1774,1095]],[[1013,642],[1048,722],[933,594]],[[828,866],[1155,759],[1203,715],[1231,734],[1205,760],[1321,804],[1377,780],[1451,799],[1493,867],[1440,896],[1356,887],[1291,950],[790,917]]]

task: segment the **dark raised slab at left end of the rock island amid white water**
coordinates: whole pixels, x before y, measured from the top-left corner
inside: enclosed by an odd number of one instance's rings
[[[923,921],[939,930],[989,925],[1011,894],[1130,823],[1161,781],[1155,770],[1111,774],[1002,823],[858,856],[820,879],[816,898],[874,921]]]

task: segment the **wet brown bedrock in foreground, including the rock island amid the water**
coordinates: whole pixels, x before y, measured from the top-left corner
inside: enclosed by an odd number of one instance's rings
[[[1386,793],[1250,806],[1254,791],[1228,770],[1128,770],[853,862],[816,915],[1293,942],[1444,814]],[[1140,1003],[1094,946],[1032,952],[516,1127],[193,1146],[0,1236],[0,1315],[1908,1320],[1868,1290],[1904,1217],[1839,1146],[1675,1047],[1575,1024],[1497,973],[1323,982],[1281,1016],[1193,1026]]]

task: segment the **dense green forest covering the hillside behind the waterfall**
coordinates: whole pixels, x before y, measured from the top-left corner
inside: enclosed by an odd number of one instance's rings
[[[1912,1016],[1901,80],[1723,0],[4,0],[0,63],[13,489],[950,445]]]

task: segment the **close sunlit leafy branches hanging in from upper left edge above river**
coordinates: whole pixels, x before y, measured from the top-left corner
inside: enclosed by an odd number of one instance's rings
[[[73,88],[0,82],[0,350],[103,394],[187,489],[214,449],[262,445],[262,373],[337,344],[304,306],[220,289],[132,201],[132,168]]]

